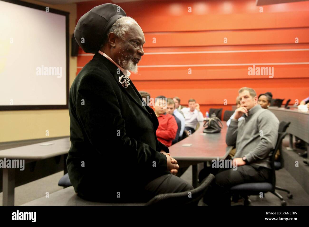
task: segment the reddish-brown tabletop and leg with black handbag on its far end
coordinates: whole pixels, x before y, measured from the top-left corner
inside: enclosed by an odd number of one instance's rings
[[[203,133],[202,122],[200,127],[191,136],[169,147],[170,154],[175,158],[180,167],[192,165],[192,186],[197,187],[197,164],[225,159],[233,149],[227,146],[225,135],[226,122],[222,122],[223,128],[219,133]],[[190,146],[188,146],[191,144]]]

